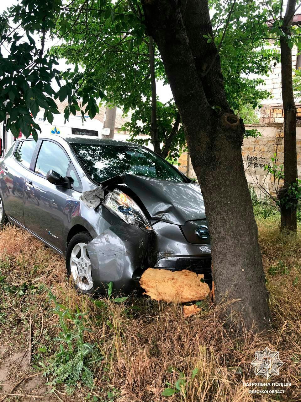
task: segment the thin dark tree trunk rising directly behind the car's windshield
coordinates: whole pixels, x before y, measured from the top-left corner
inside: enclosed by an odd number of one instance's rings
[[[150,66],[150,85],[151,85],[151,116],[150,116],[150,137],[154,151],[161,155],[161,147],[157,128],[157,90],[156,90],[156,75],[155,75],[155,47],[153,38],[149,37],[148,42],[149,66]]]

